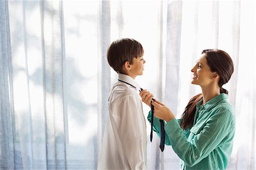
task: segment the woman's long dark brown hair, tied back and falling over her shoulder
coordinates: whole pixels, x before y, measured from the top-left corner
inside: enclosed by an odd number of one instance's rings
[[[234,72],[233,61],[225,51],[220,49],[205,49],[202,54],[206,54],[207,64],[211,72],[217,72],[220,76],[218,86],[220,86],[220,93],[228,94],[228,90],[222,88],[226,84],[232,73]],[[184,113],[181,115],[181,128],[185,129],[193,125],[196,113],[196,103],[203,98],[203,94],[197,94],[192,97],[188,105],[185,107]]]

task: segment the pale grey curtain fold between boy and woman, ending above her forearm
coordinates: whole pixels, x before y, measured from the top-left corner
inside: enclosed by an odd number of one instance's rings
[[[167,6],[166,37],[166,105],[177,113],[179,64],[181,46],[182,1],[171,1]]]

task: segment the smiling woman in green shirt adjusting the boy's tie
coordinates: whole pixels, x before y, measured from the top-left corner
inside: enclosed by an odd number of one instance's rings
[[[175,119],[167,106],[159,101],[154,105],[154,131],[160,132],[158,119],[166,121],[165,144],[171,145],[181,159],[181,169],[225,169],[232,152],[235,118],[228,102],[228,91],[222,85],[234,71],[228,53],[220,49],[202,52],[193,73],[192,84],[200,85],[202,94],[191,98],[181,119]],[[140,93],[142,101],[151,107],[153,95]],[[151,120],[151,111],[148,121]]]

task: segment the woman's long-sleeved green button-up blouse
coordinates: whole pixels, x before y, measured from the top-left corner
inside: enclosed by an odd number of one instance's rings
[[[224,93],[196,105],[193,126],[183,130],[180,119],[164,126],[165,144],[171,145],[181,159],[181,169],[226,169],[232,152],[235,118]],[[148,114],[151,121],[151,111]],[[154,131],[160,136],[160,122],[154,117]]]

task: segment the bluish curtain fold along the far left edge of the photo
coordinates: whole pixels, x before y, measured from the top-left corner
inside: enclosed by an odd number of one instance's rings
[[[13,94],[12,74],[9,72],[11,67],[11,45],[10,45],[10,26],[9,10],[6,1],[0,2],[0,168],[15,168],[15,118],[13,117],[13,100],[9,95]],[[10,65],[9,65],[10,63]],[[10,78],[10,79],[9,79]],[[9,113],[9,114],[6,114]]]

